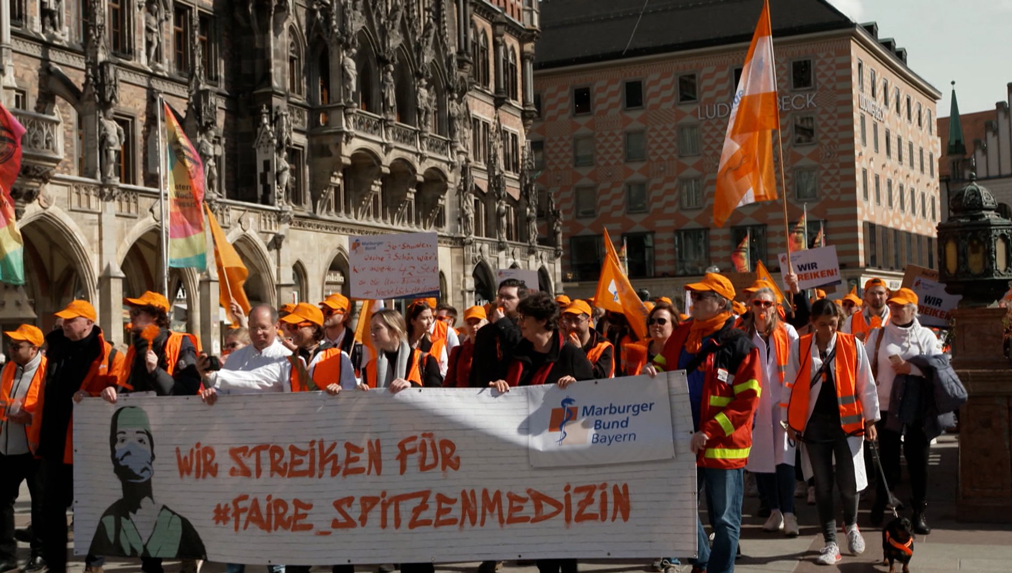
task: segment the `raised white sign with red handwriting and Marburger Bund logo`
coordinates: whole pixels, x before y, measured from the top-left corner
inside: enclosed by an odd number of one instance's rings
[[[353,299],[406,299],[439,295],[435,233],[348,238]]]

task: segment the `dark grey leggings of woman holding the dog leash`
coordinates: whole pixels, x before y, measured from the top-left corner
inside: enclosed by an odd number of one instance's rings
[[[850,443],[843,429],[837,425],[833,429],[813,428],[816,418],[809,421],[806,435],[811,435],[811,442],[805,442],[812,464],[812,476],[816,486],[816,509],[819,511],[819,522],[822,524],[823,539],[827,544],[836,543],[836,513],[833,510],[833,482],[840,492],[843,503],[843,521],[845,525],[857,523],[857,479],[854,476],[854,456],[850,452]],[[818,438],[816,437],[818,435]],[[836,458],[834,476],[833,460]],[[834,480],[835,478],[835,480]]]

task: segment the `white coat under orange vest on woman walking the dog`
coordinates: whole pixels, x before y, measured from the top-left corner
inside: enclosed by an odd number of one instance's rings
[[[829,345],[826,346],[827,353],[836,347],[836,338],[837,335],[834,334],[833,338],[829,341]],[[811,384],[810,380],[797,380],[798,370],[800,369],[799,343],[795,342],[793,346],[794,348],[790,352],[790,360],[787,362],[786,376],[789,377],[789,380],[795,380],[795,384]],[[877,421],[880,417],[878,415],[878,393],[875,390],[875,383],[871,379],[871,364],[868,362],[868,356],[860,340],[855,341],[854,348],[857,353],[857,373],[855,373],[854,387],[857,391],[857,397],[861,401],[864,420]],[[819,357],[819,345],[814,340],[811,352],[812,372],[816,373],[822,367],[822,358]],[[830,363],[829,371],[832,373],[833,380],[836,380],[836,360]],[[806,419],[806,422],[812,417],[812,411],[815,410],[816,400],[819,398],[819,392],[822,391],[822,380],[819,380],[809,392],[809,417]],[[784,395],[786,399],[789,399],[788,392],[785,392]],[[782,415],[786,419],[786,408],[784,408]],[[864,437],[848,437],[847,443],[850,444],[850,453],[854,462],[854,481],[857,483],[857,491],[861,491],[868,487],[868,477],[864,473]],[[805,473],[806,480],[812,477],[812,464],[809,462],[808,453],[805,447],[802,447],[802,471]]]

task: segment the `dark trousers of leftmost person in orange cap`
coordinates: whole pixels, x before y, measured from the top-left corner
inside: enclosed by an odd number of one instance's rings
[[[43,472],[41,465],[31,454],[20,456],[0,455],[0,563],[15,560],[17,541],[14,539],[14,502],[17,500],[21,482],[28,483],[31,495],[31,521],[38,523],[31,527],[31,553],[43,549]]]

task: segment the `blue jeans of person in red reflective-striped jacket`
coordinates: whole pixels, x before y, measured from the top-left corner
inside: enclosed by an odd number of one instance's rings
[[[709,522],[713,527],[713,546],[709,546],[702,521],[696,517],[699,557],[696,567],[707,573],[732,573],[738,538],[742,533],[742,497],[745,495],[743,470],[696,468],[696,491],[705,486]]]

